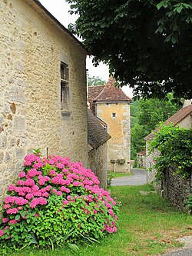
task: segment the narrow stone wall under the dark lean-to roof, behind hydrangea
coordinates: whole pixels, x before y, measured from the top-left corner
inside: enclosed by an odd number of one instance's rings
[[[108,142],[88,153],[88,166],[101,182],[101,188],[107,188],[108,174]]]

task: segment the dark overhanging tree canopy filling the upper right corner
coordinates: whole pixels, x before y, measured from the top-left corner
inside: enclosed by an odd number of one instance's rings
[[[103,61],[134,95],[192,98],[190,0],[67,0],[79,15],[71,32],[83,38],[94,65]]]

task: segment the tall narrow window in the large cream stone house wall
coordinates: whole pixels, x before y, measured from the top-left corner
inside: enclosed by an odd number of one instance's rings
[[[68,111],[69,87],[68,87],[68,65],[61,62],[61,110]]]

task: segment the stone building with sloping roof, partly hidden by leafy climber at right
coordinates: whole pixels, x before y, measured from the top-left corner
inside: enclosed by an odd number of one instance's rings
[[[180,128],[191,128],[192,125],[192,105],[184,105],[177,113],[172,115],[167,121],[164,122],[165,125],[173,124],[179,125]],[[155,160],[159,155],[156,150],[153,154],[149,154],[149,142],[155,137],[155,132],[157,132],[160,127],[156,128],[153,132],[147,135],[144,140],[146,141],[146,169],[147,169],[147,182],[155,180],[155,175],[157,171],[154,169]],[[150,171],[149,171],[150,170]]]

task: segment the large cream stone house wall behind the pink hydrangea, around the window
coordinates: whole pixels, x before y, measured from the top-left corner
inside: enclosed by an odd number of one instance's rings
[[[0,203],[31,148],[88,163],[86,53],[24,0],[0,2]],[[60,63],[71,115],[61,117]]]

